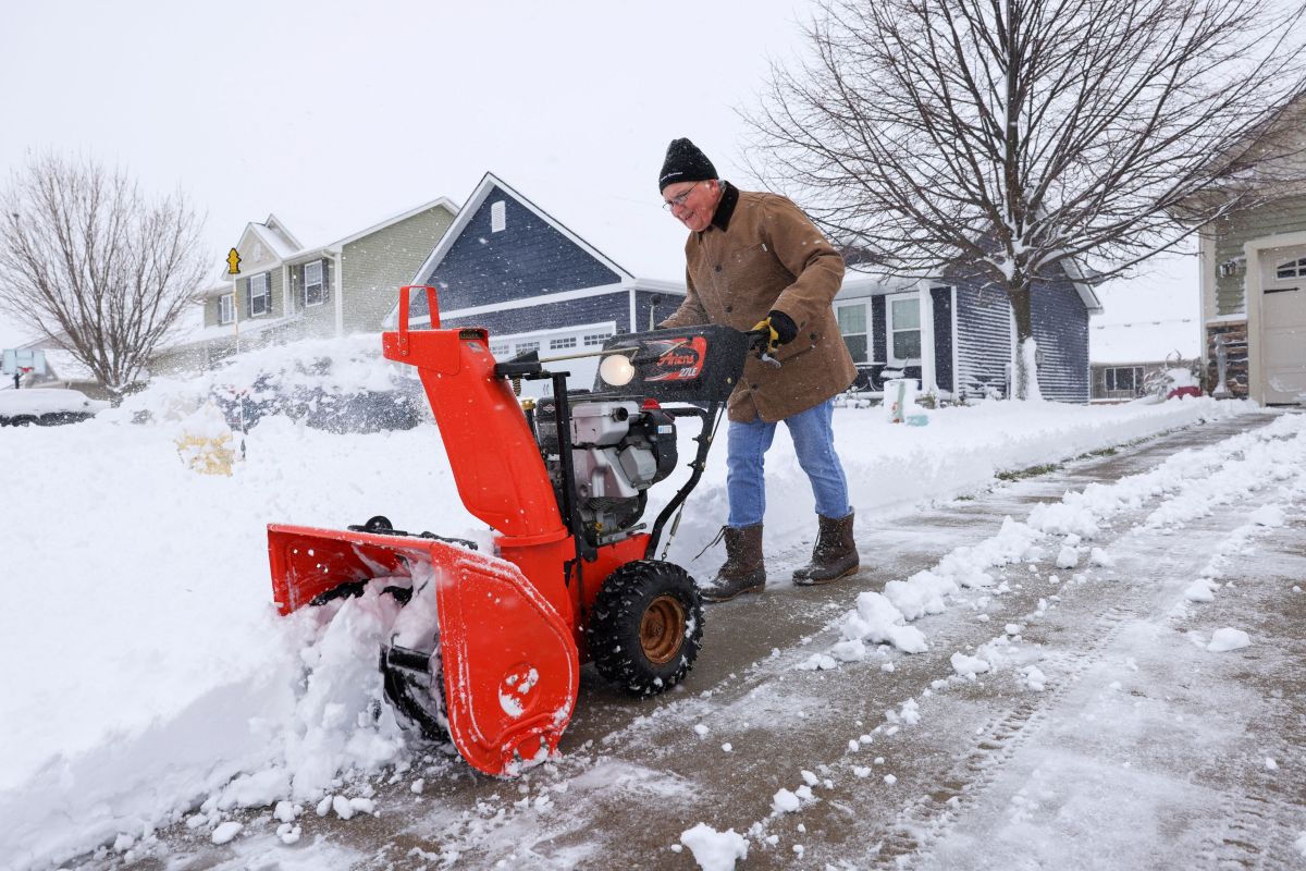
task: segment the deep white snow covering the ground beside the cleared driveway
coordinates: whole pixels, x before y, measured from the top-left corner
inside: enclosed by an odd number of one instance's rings
[[[150,401],[138,397],[135,410]],[[876,409],[842,409],[836,432],[866,524],[977,491],[1000,470],[1247,410],[1209,400],[991,402],[906,428]],[[183,817],[215,841],[235,837],[229,811],[279,799],[298,812],[370,812],[366,784],[343,776],[402,769],[410,752],[379,704],[387,606],[351,601],[325,631],[326,609],[278,619],[265,524],[343,528],[385,513],[398,528],[488,542],[457,500],[434,426],[333,435],[265,418],[227,478],[180,462],[179,424],[166,414],[131,417],[0,431],[0,552],[12,578],[0,611],[0,855],[17,868],[97,844],[129,850]],[[814,526],[811,496],[788,444],[771,457],[768,546],[795,547]],[[724,458],[713,454],[670,551],[697,575],[720,559],[691,556],[725,518]],[[650,512],[673,492],[654,488]],[[286,816],[282,838],[293,840],[295,812]],[[726,849],[708,834],[697,842]]]

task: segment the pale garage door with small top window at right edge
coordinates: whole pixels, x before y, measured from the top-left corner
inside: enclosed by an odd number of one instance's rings
[[[1262,296],[1266,402],[1306,404],[1306,259],[1279,261]]]

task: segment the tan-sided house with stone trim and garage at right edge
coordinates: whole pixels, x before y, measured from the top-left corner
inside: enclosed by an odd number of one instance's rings
[[[1306,95],[1276,119],[1258,205],[1203,225],[1202,362],[1215,396],[1306,404]]]

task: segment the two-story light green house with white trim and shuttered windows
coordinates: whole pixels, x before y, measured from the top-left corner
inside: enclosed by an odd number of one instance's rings
[[[151,362],[154,372],[200,370],[242,349],[379,332],[457,214],[447,198],[396,214],[325,245],[304,247],[277,215],[249,223],[235,245],[240,272],[201,291],[202,328]]]

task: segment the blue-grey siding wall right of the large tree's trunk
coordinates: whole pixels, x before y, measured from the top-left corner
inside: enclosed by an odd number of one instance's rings
[[[1075,285],[1068,278],[1038,282],[1029,309],[1042,355],[1038,389],[1043,398],[1088,402],[1088,308]]]

